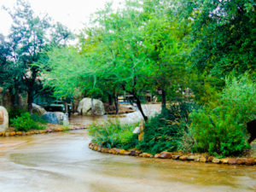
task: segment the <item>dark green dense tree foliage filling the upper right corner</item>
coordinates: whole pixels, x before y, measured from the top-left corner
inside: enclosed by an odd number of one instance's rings
[[[200,0],[193,8],[192,64],[200,73],[222,79],[230,73],[254,72],[256,63],[255,1]]]

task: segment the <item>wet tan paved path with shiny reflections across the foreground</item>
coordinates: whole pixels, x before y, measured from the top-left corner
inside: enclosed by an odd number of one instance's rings
[[[86,130],[0,138],[0,191],[256,191],[256,166],[101,154],[89,142]]]

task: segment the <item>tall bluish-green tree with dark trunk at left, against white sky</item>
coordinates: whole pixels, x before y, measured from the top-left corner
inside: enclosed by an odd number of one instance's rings
[[[52,26],[47,15],[35,15],[26,1],[18,0],[13,12],[7,10],[13,19],[8,36],[11,60],[15,63],[14,69],[19,72],[16,78],[22,80],[17,83],[24,84],[27,92],[27,108],[30,111],[33,97],[41,89],[41,81],[38,78],[40,68],[34,63],[45,56],[44,51],[50,48],[50,44],[64,44],[71,33],[61,24]],[[51,39],[47,38],[50,33]]]

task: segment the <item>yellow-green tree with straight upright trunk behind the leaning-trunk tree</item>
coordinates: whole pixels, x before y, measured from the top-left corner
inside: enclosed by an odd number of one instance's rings
[[[150,59],[148,71],[151,72],[151,84],[154,84],[152,89],[161,92],[162,110],[166,108],[166,96],[178,86],[184,86],[187,80],[184,55],[188,50],[185,40],[189,34],[189,22],[179,20],[175,11],[170,1],[143,3],[143,12],[147,15],[143,44]]]

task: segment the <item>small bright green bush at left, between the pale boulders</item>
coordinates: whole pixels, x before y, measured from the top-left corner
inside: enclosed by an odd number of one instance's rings
[[[29,131],[45,129],[44,125],[39,125],[38,122],[32,119],[30,113],[21,113],[20,117],[11,119],[11,125],[15,127],[15,131]]]

